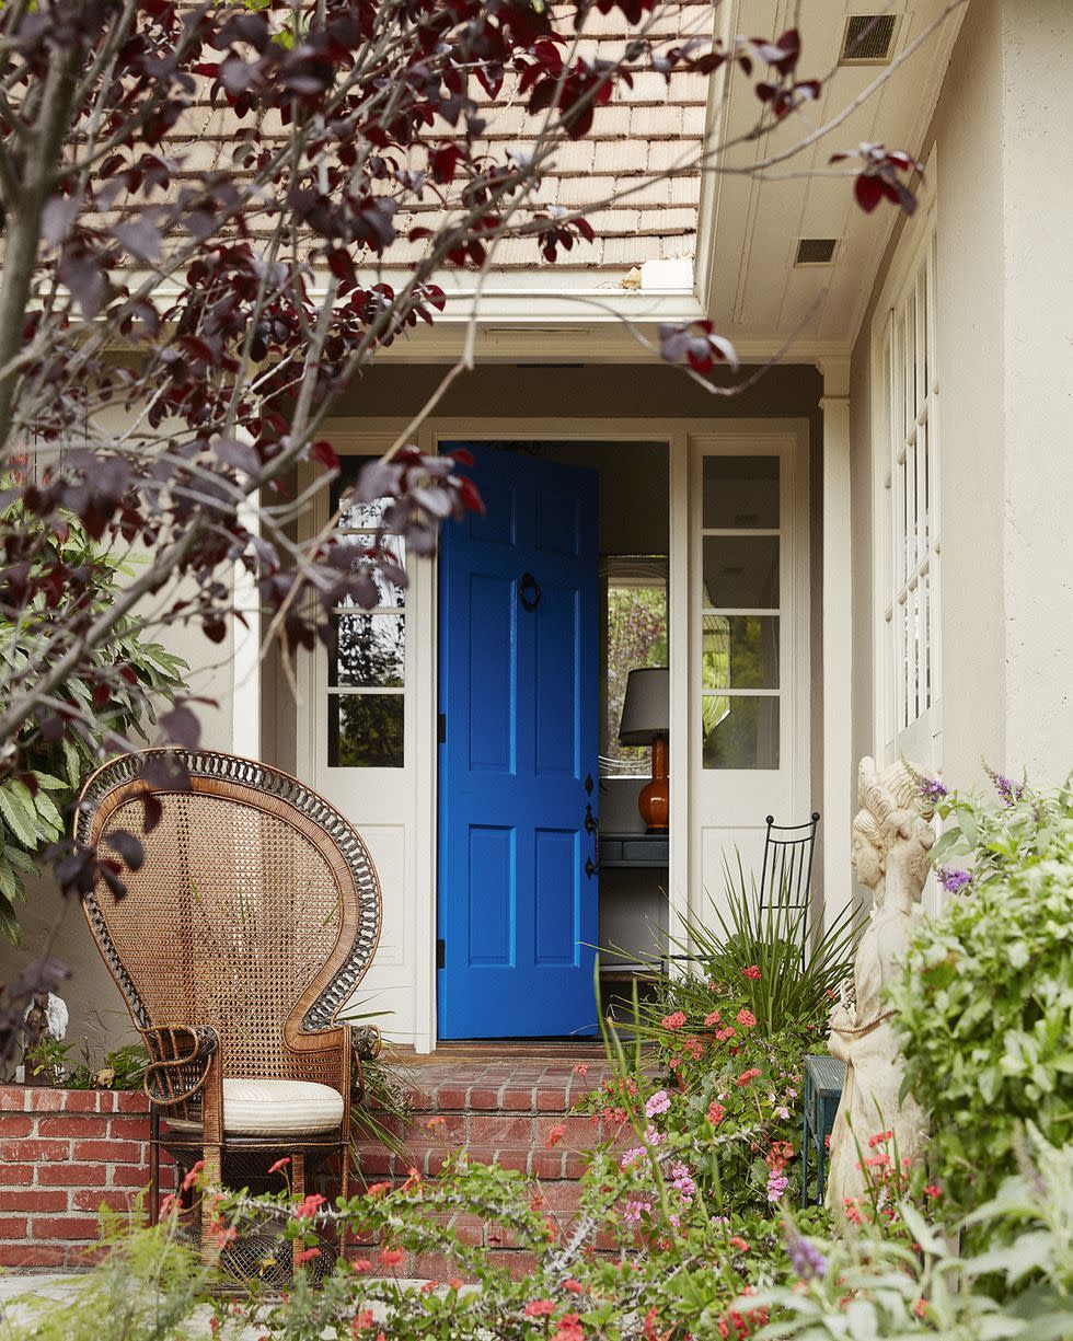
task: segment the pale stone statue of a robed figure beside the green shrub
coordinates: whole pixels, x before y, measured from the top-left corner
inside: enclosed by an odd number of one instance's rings
[[[862,759],[857,775],[860,810],[853,821],[853,866],[873,893],[872,917],[853,963],[852,999],[844,994],[830,1016],[828,1046],[846,1063],[846,1081],[830,1137],[826,1202],[841,1210],[865,1193],[864,1159],[887,1153],[916,1164],[927,1126],[912,1096],[899,1100],[903,1063],[884,988],[900,974],[905,948],[921,916],[920,896],[935,842],[934,805],[920,793],[920,772],[905,762],[876,771]],[[877,1148],[869,1139],[892,1132]],[[858,1151],[860,1147],[860,1151]]]

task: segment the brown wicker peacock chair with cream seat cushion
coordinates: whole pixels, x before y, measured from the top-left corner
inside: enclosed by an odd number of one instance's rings
[[[188,786],[181,771],[168,779],[178,762]],[[148,795],[160,818],[144,834]],[[365,843],[295,778],[192,751],[123,755],[89,779],[78,842],[107,854],[121,830],[142,838],[145,861],[125,873],[123,897],[98,881],[83,909],[150,1057],[150,1220],[161,1147],[180,1172],[203,1159],[208,1183],[252,1189],[282,1185],[267,1171],[290,1156],[298,1196],[338,1157],[346,1195],[351,1097],[361,1101],[361,1059],[378,1049],[376,1030],[337,1021],[380,939]],[[209,1261],[207,1203],[192,1228]],[[236,1242],[225,1257],[237,1275],[264,1275],[264,1254]],[[286,1277],[287,1261],[275,1267]]]

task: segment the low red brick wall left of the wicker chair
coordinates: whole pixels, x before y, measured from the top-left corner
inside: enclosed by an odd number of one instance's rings
[[[84,1266],[102,1203],[148,1183],[144,1094],[0,1086],[0,1267]]]

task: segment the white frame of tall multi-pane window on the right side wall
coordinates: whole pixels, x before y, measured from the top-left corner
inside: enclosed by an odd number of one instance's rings
[[[936,212],[936,152],[932,150],[924,172],[924,185],[919,193],[919,208],[905,227],[884,280],[872,319],[872,676],[873,676],[873,742],[874,755],[881,763],[905,756],[921,767],[942,767],[942,535],[940,535],[940,408],[938,341],[935,334],[935,248],[938,232]],[[931,353],[929,386],[927,394],[927,424],[929,436],[929,547],[923,563],[928,569],[931,585],[931,676],[934,695],[931,705],[908,725],[899,723],[899,673],[901,648],[896,644],[892,624],[892,605],[896,591],[904,585],[896,575],[895,565],[895,499],[892,493],[892,428],[888,404],[888,367],[885,366],[887,334],[893,314],[899,311],[925,264],[931,249],[928,291],[928,346]]]

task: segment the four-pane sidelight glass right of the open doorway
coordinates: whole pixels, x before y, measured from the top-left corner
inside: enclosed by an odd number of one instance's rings
[[[705,456],[700,731],[705,768],[779,767],[779,459]]]

